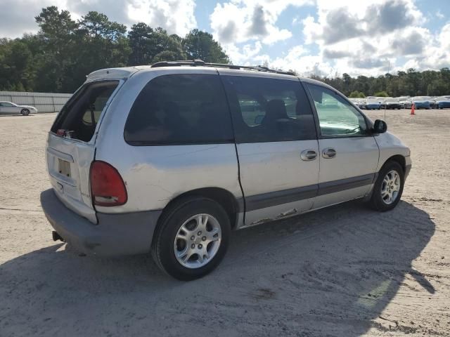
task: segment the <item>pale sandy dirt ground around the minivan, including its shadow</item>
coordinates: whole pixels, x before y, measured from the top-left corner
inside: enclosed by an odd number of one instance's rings
[[[352,201],[234,232],[217,270],[187,283],[149,256],[51,240],[39,194],[55,116],[0,116],[1,337],[449,336],[450,110],[386,112],[413,160],[394,211]]]

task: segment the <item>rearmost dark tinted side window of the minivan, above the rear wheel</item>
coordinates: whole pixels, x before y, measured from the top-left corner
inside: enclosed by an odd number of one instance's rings
[[[131,107],[124,138],[131,145],[232,143],[231,116],[219,75],[152,79]]]

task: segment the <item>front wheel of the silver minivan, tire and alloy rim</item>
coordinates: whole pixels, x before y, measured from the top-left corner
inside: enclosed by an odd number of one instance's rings
[[[400,201],[404,187],[404,171],[397,161],[387,161],[378,173],[368,205],[375,211],[394,209]]]

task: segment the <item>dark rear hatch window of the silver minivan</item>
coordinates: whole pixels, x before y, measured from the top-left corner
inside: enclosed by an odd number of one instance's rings
[[[68,138],[89,142],[94,136],[103,108],[118,85],[119,81],[84,84],[64,105],[51,131]]]

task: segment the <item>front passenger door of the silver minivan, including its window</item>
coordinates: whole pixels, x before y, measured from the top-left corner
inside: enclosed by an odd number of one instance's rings
[[[364,197],[378,166],[379,149],[366,119],[340,93],[307,83],[319,119],[319,192],[314,209]]]

